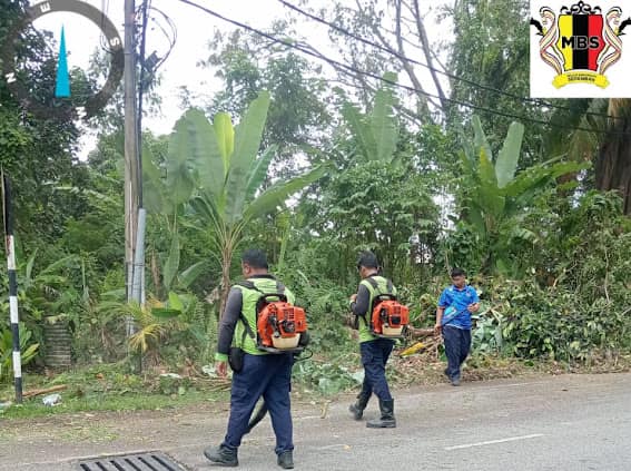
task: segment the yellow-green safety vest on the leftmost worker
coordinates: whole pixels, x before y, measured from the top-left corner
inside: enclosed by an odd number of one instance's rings
[[[278,287],[280,286],[283,291],[280,294],[287,296],[287,302],[294,304],[295,296],[288,288],[286,288],[280,282],[275,278],[248,278],[247,282],[254,284],[256,290],[250,290],[243,285],[235,285],[237,290],[241,292],[243,306],[241,313],[249,325],[249,332],[254,335],[254,338],[248,335],[247,330],[244,326],[243,320],[237,321],[235,328],[235,334],[233,336],[233,346],[239,346],[244,352],[252,355],[267,355],[267,352],[262,352],[256,346],[256,303],[260,297],[260,292],[263,293],[278,293]]]

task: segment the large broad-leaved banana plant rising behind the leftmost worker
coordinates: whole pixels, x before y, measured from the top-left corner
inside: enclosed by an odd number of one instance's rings
[[[229,291],[233,255],[243,241],[244,228],[275,212],[327,170],[319,166],[263,189],[276,151],[272,146],[259,154],[268,108],[269,94],[263,91],[236,128],[226,112],[218,112],[210,122],[204,111],[189,109],[170,136],[166,181],[151,179],[150,194],[158,210],[167,205],[190,207],[199,228],[210,235],[211,248],[221,266],[220,312]],[[156,166],[147,166],[148,173],[159,175]]]

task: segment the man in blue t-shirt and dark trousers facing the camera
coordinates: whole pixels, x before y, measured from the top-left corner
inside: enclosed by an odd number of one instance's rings
[[[480,310],[480,298],[475,288],[466,284],[462,269],[452,271],[452,282],[438,300],[434,331],[443,334],[447,355],[445,375],[452,385],[460,386],[460,367],[471,349],[471,314]]]

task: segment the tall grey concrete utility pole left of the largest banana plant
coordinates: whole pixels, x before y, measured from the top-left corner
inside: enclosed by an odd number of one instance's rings
[[[125,269],[131,300],[138,208],[138,130],[136,121],[136,4],[125,0]],[[132,324],[128,322],[128,334]]]

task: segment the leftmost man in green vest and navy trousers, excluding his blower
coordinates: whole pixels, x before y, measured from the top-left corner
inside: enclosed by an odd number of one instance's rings
[[[277,463],[293,469],[293,424],[289,390],[293,354],[260,351],[256,344],[256,303],[263,293],[284,294],[294,303],[294,294],[268,272],[267,257],[258,249],[241,256],[245,282],[231,287],[219,323],[216,371],[227,374],[233,369],[230,416],[221,444],[208,448],[204,454],[214,463],[238,465],[237,450],[249,430],[249,420],[257,401],[263,398],[276,435]],[[228,357],[229,355],[229,357]]]

